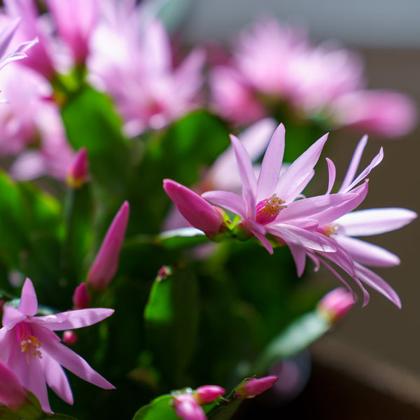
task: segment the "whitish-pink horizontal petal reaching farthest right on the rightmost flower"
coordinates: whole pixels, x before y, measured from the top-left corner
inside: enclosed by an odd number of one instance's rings
[[[389,207],[352,211],[337,220],[347,236],[370,236],[397,230],[417,217],[415,211]]]

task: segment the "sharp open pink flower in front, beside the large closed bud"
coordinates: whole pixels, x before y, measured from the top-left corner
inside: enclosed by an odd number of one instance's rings
[[[358,200],[360,193],[296,200],[302,197],[302,190],[314,175],[313,168],[327,136],[316,141],[281,174],[284,134],[283,125],[279,125],[265,152],[258,181],[246,149],[239,139],[231,136],[242,181],[242,197],[227,191],[209,191],[202,194],[202,197],[238,214],[241,217],[239,228],[248,236],[257,237],[269,253],[273,252],[273,247],[265,236],[267,234],[291,246],[290,249],[296,245],[333,252],[335,246],[314,232],[318,223],[312,216],[326,209],[332,210],[338,205],[340,208],[353,209],[353,202]]]

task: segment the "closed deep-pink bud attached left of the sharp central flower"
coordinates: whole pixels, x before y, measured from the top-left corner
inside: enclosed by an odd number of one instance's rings
[[[210,239],[223,230],[221,209],[212,206],[200,195],[172,179],[164,179],[163,188],[179,212],[194,228],[202,230]]]

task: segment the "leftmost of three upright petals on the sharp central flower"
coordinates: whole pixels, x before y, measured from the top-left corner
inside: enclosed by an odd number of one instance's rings
[[[257,181],[252,167],[251,159],[249,158],[244,145],[235,136],[230,136],[232,147],[235,151],[239,176],[242,181],[242,199],[246,204],[246,216],[255,218],[255,194],[257,190]]]

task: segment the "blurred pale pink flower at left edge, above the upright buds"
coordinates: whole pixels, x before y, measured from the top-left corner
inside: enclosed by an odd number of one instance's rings
[[[0,155],[16,155],[10,174],[34,179],[48,174],[64,179],[73,151],[67,143],[52,88],[45,78],[24,66],[0,71]]]

